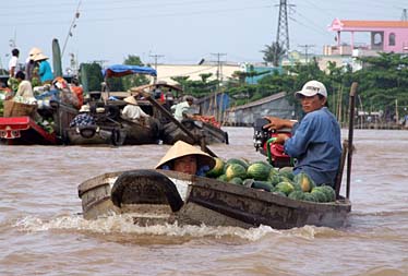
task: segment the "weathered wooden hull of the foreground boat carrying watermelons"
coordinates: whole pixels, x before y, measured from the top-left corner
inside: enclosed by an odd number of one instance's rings
[[[79,185],[83,216],[132,216],[135,224],[289,229],[304,225],[343,227],[347,199],[331,203],[296,201],[277,193],[169,170],[104,173]]]

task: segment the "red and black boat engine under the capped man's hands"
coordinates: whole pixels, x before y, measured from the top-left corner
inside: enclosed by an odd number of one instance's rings
[[[291,167],[292,158],[285,153],[285,148],[280,144],[275,144],[274,140],[277,134],[284,133],[291,136],[290,130],[266,130],[263,127],[268,123],[268,120],[259,118],[254,122],[253,146],[256,152],[267,156],[268,163],[274,167]]]

